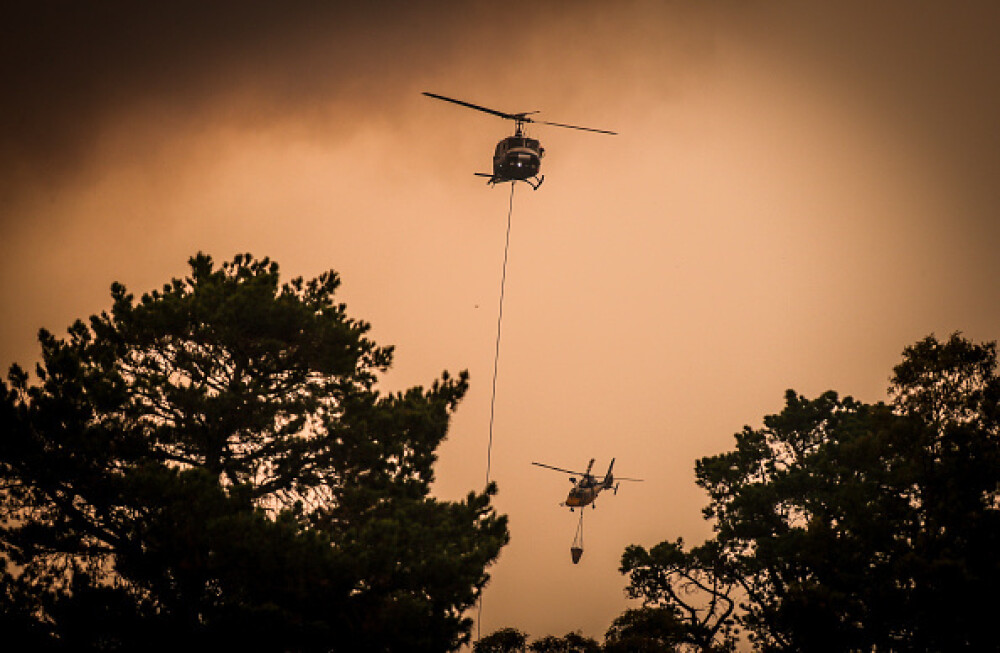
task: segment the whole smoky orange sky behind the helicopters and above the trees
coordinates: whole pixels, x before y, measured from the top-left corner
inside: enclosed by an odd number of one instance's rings
[[[436,484],[458,498],[485,474],[508,200],[472,173],[510,125],[420,92],[617,130],[532,130],[483,615],[600,638],[625,545],[705,537],[694,461],[785,388],[875,401],[918,338],[1000,335],[1000,9],[705,4],[5,9],[0,366],[199,250],[333,268],[396,345],[387,389],[471,372]],[[587,513],[572,565],[569,483],[530,462],[612,456],[647,481]]]

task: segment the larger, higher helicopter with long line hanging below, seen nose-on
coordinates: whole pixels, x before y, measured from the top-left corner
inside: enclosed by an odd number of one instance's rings
[[[436,100],[453,102],[454,104],[458,104],[463,107],[469,107],[470,109],[476,109],[477,111],[483,111],[494,116],[514,121],[514,135],[508,136],[497,143],[496,150],[493,153],[493,173],[474,173],[478,177],[487,177],[488,179],[486,183],[490,186],[507,181],[512,183],[523,181],[531,186],[532,189],[538,190],[538,187],[542,185],[543,181],[545,181],[545,176],[539,176],[538,174],[538,170],[542,165],[542,157],[545,156],[545,148],[542,147],[541,143],[539,143],[537,139],[525,136],[524,125],[526,123],[533,122],[540,125],[551,125],[553,127],[579,129],[581,131],[595,132],[598,134],[617,134],[617,132],[608,131],[606,129],[593,129],[591,127],[579,127],[577,125],[564,125],[558,122],[547,122],[545,120],[535,120],[534,118],[528,117],[530,114],[538,113],[537,111],[505,113],[503,111],[497,111],[496,109],[490,109],[478,104],[465,102],[464,100],[456,100],[454,98],[437,95],[435,93],[427,93],[425,91],[424,95],[432,97]]]

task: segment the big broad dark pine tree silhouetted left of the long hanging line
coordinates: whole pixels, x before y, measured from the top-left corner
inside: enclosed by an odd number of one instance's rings
[[[5,625],[65,650],[468,641],[508,533],[495,486],[429,496],[467,375],[383,395],[392,349],[335,273],[190,267],[138,302],[113,285],[40,333],[37,382],[0,382]]]

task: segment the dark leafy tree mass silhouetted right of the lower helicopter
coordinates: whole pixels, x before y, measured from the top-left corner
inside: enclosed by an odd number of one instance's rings
[[[992,648],[995,344],[925,338],[904,350],[890,393],[867,405],[788,391],[734,451],[698,461],[714,537],[629,547],[629,591],[682,613],[682,571],[697,568],[714,583],[701,582],[707,600],[741,602],[763,649]]]

